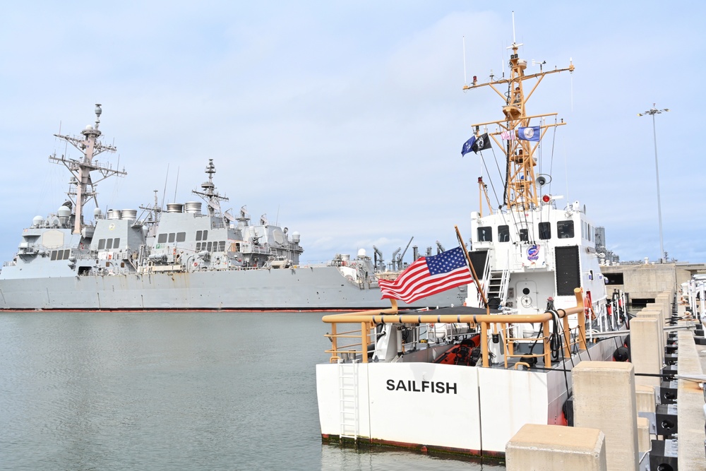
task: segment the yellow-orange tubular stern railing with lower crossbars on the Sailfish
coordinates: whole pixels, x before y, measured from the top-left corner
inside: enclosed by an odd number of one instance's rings
[[[566,357],[571,356],[570,347],[578,343],[580,350],[586,350],[586,317],[585,307],[583,302],[583,292],[580,288],[574,290],[576,297],[576,306],[567,309],[556,309],[556,316],[561,319],[563,330],[563,349]],[[350,357],[352,355],[360,355],[361,362],[368,362],[368,345],[371,344],[371,329],[379,323],[401,323],[401,324],[421,324],[421,323],[467,323],[471,326],[480,326],[481,328],[481,356],[483,358],[483,366],[489,366],[488,352],[488,335],[491,333],[500,333],[501,329],[505,334],[505,367],[507,357],[528,357],[528,354],[514,354],[513,341],[519,340],[516,338],[508,338],[507,326],[515,323],[542,323],[542,332],[544,335],[539,336],[544,344],[544,352],[542,354],[531,355],[532,357],[544,357],[544,366],[551,367],[551,349],[549,347],[549,321],[554,320],[555,314],[545,312],[543,314],[465,314],[454,316],[453,314],[427,314],[433,311],[425,311],[424,314],[398,314],[397,301],[390,300],[392,307],[389,309],[374,309],[371,311],[361,311],[350,314],[332,314],[323,316],[322,321],[331,324],[331,333],[326,334],[331,340],[332,346],[326,353],[331,354],[330,362],[336,362],[342,358],[342,355]],[[571,342],[571,334],[569,328],[568,316],[578,314],[578,338],[576,342]],[[360,323],[360,330],[350,330],[347,332],[337,333],[337,324],[340,323]],[[354,342],[350,343],[352,340]],[[512,340],[512,341],[510,341]],[[524,339],[527,340],[527,339]],[[341,342],[346,342],[346,345],[340,345]]]

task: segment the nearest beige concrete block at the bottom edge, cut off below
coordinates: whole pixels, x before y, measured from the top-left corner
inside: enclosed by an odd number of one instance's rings
[[[598,429],[525,424],[505,446],[508,471],[607,471],[605,435]]]

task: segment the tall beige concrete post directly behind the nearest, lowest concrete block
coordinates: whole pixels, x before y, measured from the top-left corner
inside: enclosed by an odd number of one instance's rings
[[[645,322],[656,323],[653,319]],[[581,362],[573,368],[572,380],[574,427],[603,431],[609,470],[638,470],[640,455],[633,364]]]

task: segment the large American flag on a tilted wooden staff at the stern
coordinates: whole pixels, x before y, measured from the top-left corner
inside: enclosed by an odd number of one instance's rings
[[[419,257],[393,281],[380,280],[382,299],[411,303],[423,297],[473,282],[461,247],[430,257]]]

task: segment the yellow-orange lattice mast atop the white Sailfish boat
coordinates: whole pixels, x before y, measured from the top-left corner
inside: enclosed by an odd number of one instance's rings
[[[513,54],[510,54],[510,78],[501,78],[501,80],[491,81],[487,83],[477,83],[476,77],[473,78],[472,85],[465,85],[463,90],[479,88],[488,85],[490,88],[500,95],[505,102],[503,106],[503,114],[505,119],[501,121],[490,121],[487,123],[473,124],[476,135],[479,134],[480,126],[489,124],[497,124],[501,131],[509,131],[514,139],[510,139],[503,143],[501,138],[498,138],[500,132],[489,133],[493,141],[505,153],[506,161],[508,162],[507,169],[507,191],[505,192],[505,204],[509,209],[517,208],[517,210],[529,210],[538,205],[537,200],[537,184],[534,181],[534,166],[537,165],[537,160],[534,158],[534,151],[539,146],[539,141],[526,141],[517,138],[517,131],[520,127],[530,127],[531,119],[542,119],[545,117],[556,116],[556,113],[537,114],[534,116],[527,115],[525,105],[527,100],[530,100],[532,93],[537,89],[539,82],[544,76],[550,73],[569,71],[573,72],[574,66],[569,63],[567,68],[555,68],[553,71],[540,71],[531,75],[525,75],[527,61],[520,59],[517,50],[522,44],[513,42],[513,45],[508,49],[513,49]],[[527,84],[529,91],[525,93],[525,81],[536,79],[532,85]],[[507,93],[501,91],[499,85],[507,85]],[[563,121],[554,124],[541,124],[539,127],[539,138],[544,136],[546,130],[553,126],[562,126]]]

